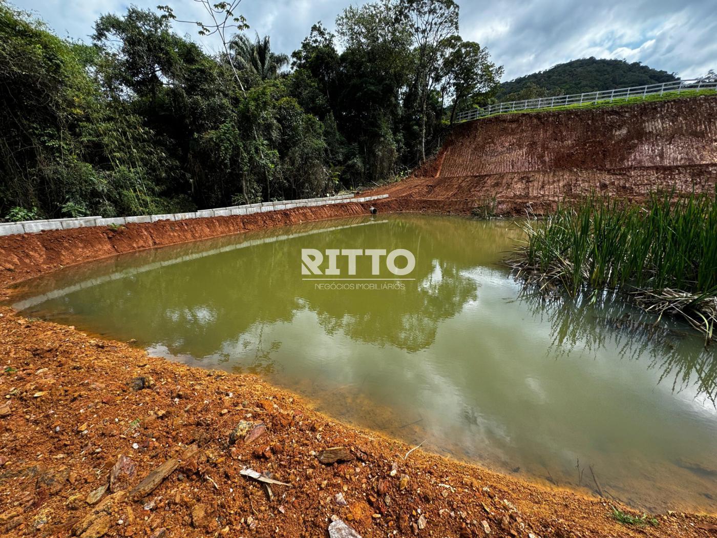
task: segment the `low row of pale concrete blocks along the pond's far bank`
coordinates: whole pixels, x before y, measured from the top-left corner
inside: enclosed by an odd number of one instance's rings
[[[79,217],[76,219],[49,219],[26,220],[23,222],[0,222],[0,235],[14,235],[22,233],[37,233],[43,230],[67,230],[69,228],[82,228],[89,226],[122,226],[133,222],[157,222],[158,220],[187,220],[205,217],[230,217],[252,213],[265,213],[281,211],[295,207],[316,207],[329,204],[346,204],[349,202],[371,202],[388,198],[388,194],[379,196],[366,196],[354,198],[353,194],[326,198],[308,198],[303,200],[282,200],[280,202],[261,202],[259,204],[237,205],[232,207],[219,207],[217,209],[202,209],[192,213],[169,213],[140,215],[138,217]]]

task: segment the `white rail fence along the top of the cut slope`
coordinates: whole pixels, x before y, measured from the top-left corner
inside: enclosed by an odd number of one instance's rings
[[[516,112],[518,110],[536,110],[538,108],[554,108],[556,106],[598,103],[599,101],[627,100],[632,98],[646,98],[648,95],[663,95],[688,90],[717,90],[717,80],[695,78],[692,80],[673,80],[661,84],[634,86],[632,88],[619,88],[617,90],[603,90],[602,92],[572,93],[556,97],[542,97],[524,101],[509,101],[508,103],[495,103],[483,108],[463,110],[456,115],[457,122],[477,120],[489,115]]]

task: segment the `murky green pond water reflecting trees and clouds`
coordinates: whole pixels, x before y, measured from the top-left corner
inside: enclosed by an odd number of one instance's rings
[[[640,509],[717,512],[714,346],[618,300],[524,291],[499,263],[519,237],[454,217],[315,222],[82,265],[26,283],[14,306],[260,374],[334,417],[528,480],[597,491],[594,474]],[[412,280],[311,281],[308,248],[401,248],[416,263]],[[331,278],[397,278],[347,263]]]

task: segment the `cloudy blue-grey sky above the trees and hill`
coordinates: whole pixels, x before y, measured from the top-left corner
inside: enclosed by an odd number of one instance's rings
[[[88,40],[100,14],[122,13],[129,4],[173,7],[179,19],[201,19],[195,0],[9,0],[33,11],[61,37]],[[213,1],[213,0],[212,0]],[[290,54],[322,21],[334,28],[348,0],[242,0],[239,12],[250,32],[268,34],[272,49]],[[688,79],[717,70],[716,0],[457,0],[463,39],[488,47],[505,67],[503,80],[594,56],[642,62]],[[196,27],[175,24],[176,32],[196,35]],[[216,42],[204,42],[216,49]]]

